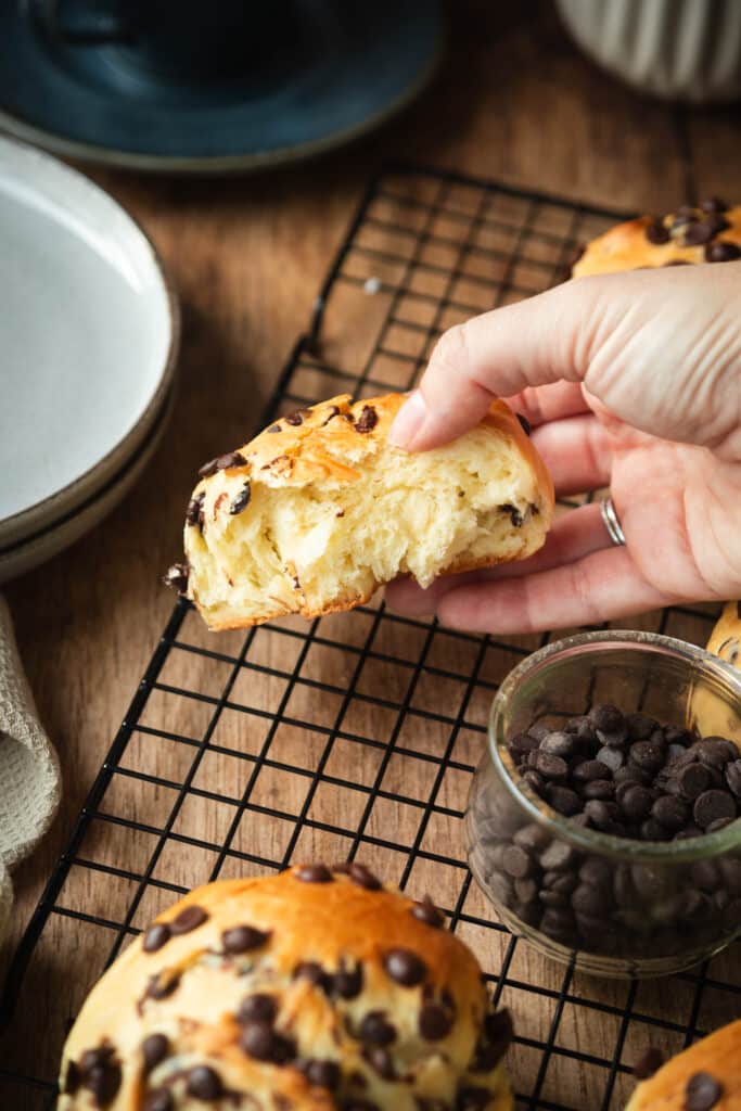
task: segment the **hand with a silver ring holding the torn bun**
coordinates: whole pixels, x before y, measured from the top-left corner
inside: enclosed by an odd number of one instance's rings
[[[445,332],[391,439],[419,451],[503,397],[533,426],[557,493],[610,487],[522,563],[399,580],[389,605],[531,632],[741,597],[741,262],[580,278]]]

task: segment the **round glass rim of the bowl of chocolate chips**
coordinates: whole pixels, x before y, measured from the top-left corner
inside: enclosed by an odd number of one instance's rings
[[[504,788],[514,802],[524,810],[529,820],[552,837],[565,840],[582,851],[607,855],[613,860],[645,864],[683,864],[741,849],[741,817],[714,833],[703,833],[683,841],[634,841],[573,824],[543,802],[527,783],[518,782],[514,778],[514,764],[507,751],[503,731],[498,728],[501,724],[502,705],[528,675],[552,657],[573,654],[582,649],[600,652],[611,648],[633,648],[644,652],[660,649],[662,654],[669,653],[688,664],[703,665],[734,688],[741,709],[741,672],[697,644],[662,633],[628,629],[607,629],[564,637],[545,644],[522,660],[509,672],[493,698],[488,723],[488,749],[491,762]],[[741,752],[739,757],[741,758]]]

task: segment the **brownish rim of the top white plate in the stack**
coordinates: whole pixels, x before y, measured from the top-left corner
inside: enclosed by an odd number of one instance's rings
[[[2,113],[0,112],[0,114]],[[32,158],[36,158],[41,162],[51,163],[57,171],[61,171],[63,174],[68,176],[76,182],[76,184],[82,183],[83,188],[88,188],[100,193],[107,201],[120,210],[123,217],[129,221],[133,231],[137,232],[143,240],[143,244],[151,258],[153,272],[161,283],[161,289],[164,293],[168,339],[167,351],[160,368],[157,387],[146,407],[139,414],[138,420],[136,420],[131,428],[124,432],[124,434],[104,454],[102,454],[96,463],[89,467],[81,474],[78,474],[78,477],[72,479],[71,482],[60,487],[53,493],[47,494],[46,498],[41,498],[31,506],[27,506],[24,509],[20,509],[14,513],[9,513],[7,517],[0,517],[0,552],[6,548],[11,547],[13,543],[21,543],[24,539],[28,539],[29,533],[33,534],[39,530],[39,528],[42,528],[43,526],[39,524],[39,518],[43,520],[43,518],[48,518],[50,513],[56,512],[53,507],[58,501],[61,500],[66,506],[66,512],[72,512],[77,507],[79,507],[80,502],[83,502],[89,496],[91,496],[91,492],[94,493],[99,488],[100,483],[96,484],[92,491],[88,489],[93,476],[98,471],[102,470],[106,472],[112,466],[113,473],[119,471],[120,468],[116,468],[114,466],[114,457],[123,456],[126,461],[130,459],[132,453],[141,446],[141,441],[147,439],[152,424],[157,421],[157,418],[162,409],[163,399],[172,387],[178,364],[178,356],[180,353],[181,339],[180,300],[172,276],[163,262],[162,257],[154,246],[151,237],[143,229],[139,220],[132,216],[128,208],[121,204],[116,197],[99,186],[97,181],[93,181],[86,173],[82,173],[74,167],[68,166],[67,162],[61,161],[61,159],[57,158],[54,154],[51,154],[46,150],[41,150],[32,143],[21,140],[16,136],[0,133],[0,149],[3,146],[19,149],[24,156],[30,154]],[[108,478],[110,478],[110,476],[108,476]],[[106,483],[108,478],[102,479],[102,481]],[[7,532],[10,532],[13,537],[10,542],[6,539]]]

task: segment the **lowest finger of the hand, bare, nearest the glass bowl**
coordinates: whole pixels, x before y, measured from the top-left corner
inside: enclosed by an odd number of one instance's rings
[[[435,613],[453,629],[524,633],[595,624],[671,601],[643,578],[628,548],[609,548],[522,578],[459,587]]]

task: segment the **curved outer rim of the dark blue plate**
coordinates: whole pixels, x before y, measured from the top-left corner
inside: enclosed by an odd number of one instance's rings
[[[76,139],[68,139],[56,131],[36,127],[13,112],[0,108],[0,139],[7,138],[46,153],[64,158],[79,158],[90,166],[116,167],[123,170],[144,170],[149,173],[182,173],[203,177],[229,177],[230,174],[259,173],[261,170],[281,166],[294,166],[317,158],[330,150],[368,134],[387,120],[401,112],[430,83],[434,77],[445,49],[448,34],[444,18],[440,26],[433,49],[413,79],[378,111],[350,127],[339,128],[320,139],[313,139],[292,147],[243,154],[216,154],[212,157],[190,157],[173,154],[141,154],[136,151],[98,147]],[[78,171],[79,172],[79,171]],[[84,177],[84,174],[82,174]],[[118,202],[117,202],[118,203]]]

